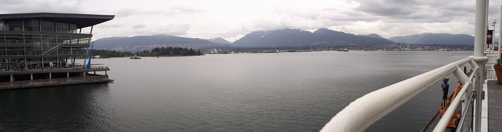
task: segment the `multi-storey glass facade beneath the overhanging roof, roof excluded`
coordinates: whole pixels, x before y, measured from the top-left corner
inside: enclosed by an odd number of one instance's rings
[[[0,70],[65,67],[87,56],[91,34],[76,24],[45,19],[0,19]]]

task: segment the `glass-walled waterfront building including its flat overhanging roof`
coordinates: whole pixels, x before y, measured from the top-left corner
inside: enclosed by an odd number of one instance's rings
[[[114,15],[0,14],[0,70],[67,67],[88,56],[93,25]],[[90,32],[82,32],[90,28]]]

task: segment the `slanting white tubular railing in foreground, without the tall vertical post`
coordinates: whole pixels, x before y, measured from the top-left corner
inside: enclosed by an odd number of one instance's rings
[[[444,77],[453,74],[463,84],[463,87],[457,94],[459,97],[456,97],[451,102],[443,118],[440,119],[439,123],[434,128],[434,131],[444,131],[458,104],[460,104],[460,102],[471,102],[471,100],[474,99],[471,97],[473,91],[468,89],[475,89],[479,86],[473,83],[475,81],[483,82],[474,79],[481,79],[479,74],[484,72],[483,68],[480,68],[476,62],[484,62],[487,59],[487,57],[469,56],[429,72],[370,92],[354,100],[338,112],[321,131],[364,131],[375,121],[384,117],[401,104],[415,97]],[[471,67],[473,67],[473,72],[470,76],[465,75],[463,70],[460,69],[460,67],[466,63],[469,63]],[[484,80],[484,78],[482,79]],[[461,100],[462,98],[470,99]],[[464,110],[464,108],[467,109],[468,105],[464,104],[462,109]],[[463,120],[464,118],[461,117],[461,122],[463,122]]]

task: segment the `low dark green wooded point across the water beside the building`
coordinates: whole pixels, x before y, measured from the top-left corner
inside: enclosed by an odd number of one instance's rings
[[[143,50],[137,52],[130,51],[114,51],[114,50],[92,50],[92,55],[100,55],[101,58],[106,57],[128,57],[128,56],[189,56],[203,55],[200,50],[186,47],[155,47],[152,50]]]

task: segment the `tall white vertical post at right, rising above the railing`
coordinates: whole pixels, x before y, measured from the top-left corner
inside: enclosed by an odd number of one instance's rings
[[[476,15],[475,15],[475,25],[474,25],[474,57],[484,57],[484,51],[486,50],[486,18],[487,18],[487,5],[488,0],[476,0]],[[477,81],[479,83],[475,86],[475,90],[479,91],[483,87],[484,83],[484,61],[476,61],[479,66],[479,77]],[[479,126],[481,125],[481,97],[476,96],[476,122],[475,131],[479,131]]]

